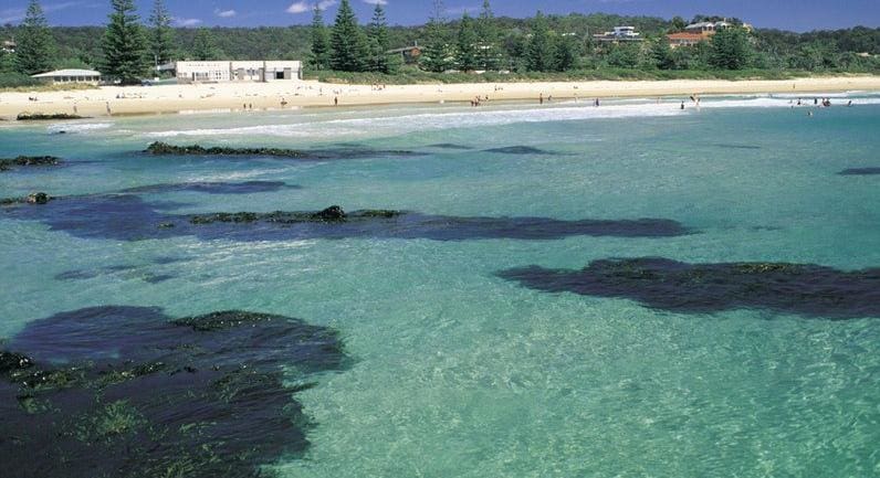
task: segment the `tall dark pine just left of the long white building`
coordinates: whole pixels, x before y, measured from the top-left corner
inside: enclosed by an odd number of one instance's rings
[[[134,0],[111,0],[113,13],[104,33],[104,76],[135,85],[147,71],[147,42]]]

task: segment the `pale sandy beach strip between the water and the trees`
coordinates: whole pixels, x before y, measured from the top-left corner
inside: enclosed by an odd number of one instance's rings
[[[467,83],[342,85],[314,81],[279,83],[218,83],[199,85],[104,86],[95,89],[0,93],[0,118],[14,120],[21,113],[74,114],[83,117],[180,114],[223,110],[227,113],[297,107],[387,106],[398,104],[534,100],[539,95],[558,99],[638,98],[699,95],[744,95],[880,91],[880,76],[840,76],[798,79],[669,79],[589,81],[557,83]],[[30,97],[36,97],[36,102]],[[282,106],[282,102],[285,105]],[[245,108],[247,106],[247,108]]]

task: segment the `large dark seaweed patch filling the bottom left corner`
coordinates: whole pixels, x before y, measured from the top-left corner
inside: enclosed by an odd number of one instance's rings
[[[308,446],[292,395],[345,367],[333,330],[241,311],[82,309],[32,322],[8,346],[27,353],[0,352],[9,478],[262,476],[261,465]]]

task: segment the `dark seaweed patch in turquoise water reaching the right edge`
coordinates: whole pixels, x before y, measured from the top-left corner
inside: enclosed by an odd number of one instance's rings
[[[499,273],[547,293],[622,297],[685,314],[759,308],[806,317],[880,317],[880,268],[842,272],[811,264],[685,264],[605,259],[582,270],[532,266]]]

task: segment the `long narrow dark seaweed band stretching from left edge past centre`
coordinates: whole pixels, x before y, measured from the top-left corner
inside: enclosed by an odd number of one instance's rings
[[[576,220],[459,217],[401,211],[170,214],[178,204],[147,203],[136,195],[56,198],[49,204],[4,208],[7,215],[41,221],[77,237],[124,241],[197,236],[205,240],[307,238],[558,240],[568,236],[670,237],[689,234],[664,219]],[[328,213],[329,212],[329,213]]]

